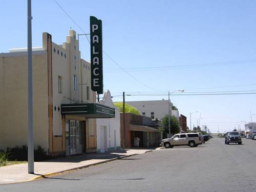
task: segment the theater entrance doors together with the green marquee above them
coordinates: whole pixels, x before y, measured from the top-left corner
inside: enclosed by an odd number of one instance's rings
[[[115,109],[98,103],[62,104],[65,118],[66,155],[87,153],[91,135],[88,124],[94,118],[115,117]]]

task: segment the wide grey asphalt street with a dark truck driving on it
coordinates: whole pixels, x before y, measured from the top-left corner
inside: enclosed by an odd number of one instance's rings
[[[256,141],[160,149],[0,191],[255,191]]]

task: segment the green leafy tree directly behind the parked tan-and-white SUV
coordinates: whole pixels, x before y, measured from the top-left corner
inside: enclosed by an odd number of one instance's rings
[[[168,115],[165,115],[162,118],[162,122],[161,122],[162,126],[163,126],[163,136],[164,138],[167,138],[167,133],[169,133],[169,122],[168,122]],[[170,117],[170,134],[174,135],[176,133],[180,132],[180,125],[179,122],[177,120],[177,118],[175,116],[171,116]]]

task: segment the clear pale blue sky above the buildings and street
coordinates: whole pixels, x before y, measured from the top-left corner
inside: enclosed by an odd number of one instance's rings
[[[27,47],[27,1],[0,3],[0,53]],[[145,101],[184,89],[170,100],[188,127],[190,112],[192,125],[213,133],[256,122],[256,94],[185,95],[256,93],[256,1],[32,0],[32,46],[42,46],[43,32],[57,44],[71,28],[90,33],[91,15],[102,20],[103,82],[113,101],[123,91],[126,101]],[[89,42],[79,40],[90,61]]]

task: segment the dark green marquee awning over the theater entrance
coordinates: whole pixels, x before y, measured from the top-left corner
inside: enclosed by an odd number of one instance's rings
[[[61,115],[76,115],[86,118],[115,117],[115,108],[98,103],[61,104]]]

